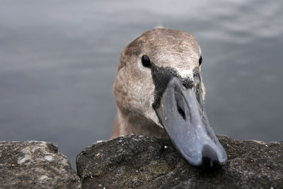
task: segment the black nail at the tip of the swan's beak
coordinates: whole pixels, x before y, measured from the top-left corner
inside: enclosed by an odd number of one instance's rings
[[[221,168],[216,152],[208,144],[205,144],[202,148],[202,166],[205,169]]]

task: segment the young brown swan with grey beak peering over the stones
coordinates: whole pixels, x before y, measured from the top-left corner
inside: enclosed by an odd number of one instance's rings
[[[130,42],[121,52],[113,86],[112,138],[169,138],[192,166],[224,166],[226,151],[204,109],[201,65],[200,45],[183,30],[154,28]]]

